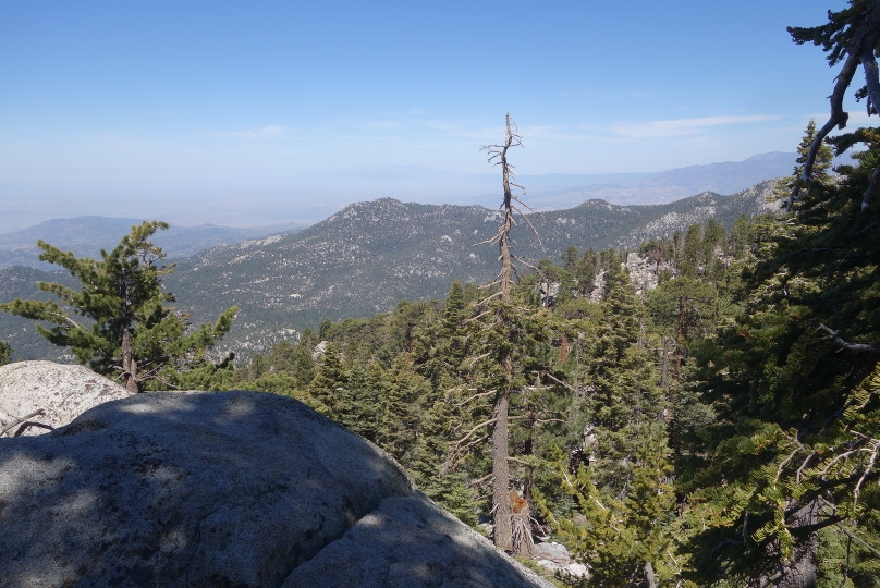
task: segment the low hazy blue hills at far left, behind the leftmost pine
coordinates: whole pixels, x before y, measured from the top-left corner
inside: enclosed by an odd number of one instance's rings
[[[110,250],[115,247],[122,236],[131,231],[133,224],[142,222],[140,219],[76,217],[48,220],[21,231],[0,233],[0,268],[28,266],[44,270],[57,269],[56,266],[37,259],[41,253],[37,248],[37,241],[40,238],[64,250],[73,250],[77,255],[97,257],[101,249]],[[295,232],[305,226],[286,224],[237,229],[213,224],[172,225],[168,231],[159,231],[154,242],[162,247],[170,259],[178,259],[217,245],[237,243],[272,233]]]

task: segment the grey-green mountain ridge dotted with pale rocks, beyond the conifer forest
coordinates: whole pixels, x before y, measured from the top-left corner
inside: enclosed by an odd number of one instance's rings
[[[632,248],[709,218],[731,225],[740,215],[777,209],[777,203],[768,201],[772,186],[767,181],[732,196],[706,192],[663,205],[588,200],[530,215],[541,242],[521,222],[514,252],[533,261],[559,260],[571,245],[582,250]],[[371,315],[402,298],[441,297],[454,279],[490,281],[498,272],[498,252],[474,244],[490,237],[499,221],[500,211],[481,206],[404,204],[391,198],[358,203],[302,231],[201,250],[180,260],[164,285],[195,322],[239,305],[241,313],[222,347],[248,356],[306,327],[314,329],[322,319]],[[61,236],[52,238],[60,242]],[[37,280],[71,279],[63,271],[2,269],[0,302],[40,296]],[[12,344],[17,358],[60,357],[59,350],[36,335],[30,321],[4,313],[0,313],[0,340]]]

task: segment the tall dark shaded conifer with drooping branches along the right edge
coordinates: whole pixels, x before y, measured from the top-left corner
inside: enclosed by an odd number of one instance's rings
[[[876,569],[880,552],[880,134],[859,128],[829,140],[839,152],[867,148],[835,181],[822,175],[821,150],[830,130],[846,122],[843,95],[859,63],[869,109],[880,105],[872,57],[880,2],[854,1],[829,17],[790,32],[796,42],[822,45],[832,64],[844,61],[831,118],[806,157],[807,138],[802,144],[791,215],[759,228],[744,311],[699,362],[717,418],[700,432],[707,443],[693,452],[682,489],[693,515],[712,522],[692,541],[694,578],[704,584],[855,583]],[[822,551],[847,541],[860,551],[845,564]]]

